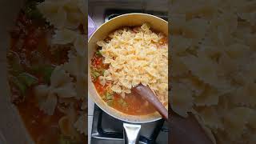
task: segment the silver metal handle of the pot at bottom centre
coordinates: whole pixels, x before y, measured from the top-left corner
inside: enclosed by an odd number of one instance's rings
[[[138,144],[139,132],[141,125],[130,123],[123,123],[124,143],[125,144]]]

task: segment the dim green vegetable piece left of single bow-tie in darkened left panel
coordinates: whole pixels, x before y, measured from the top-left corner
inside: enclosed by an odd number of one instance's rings
[[[27,87],[38,83],[38,78],[35,78],[33,75],[27,73],[18,74],[18,80]]]

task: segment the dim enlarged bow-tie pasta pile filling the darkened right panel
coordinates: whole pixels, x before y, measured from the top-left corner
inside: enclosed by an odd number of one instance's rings
[[[214,143],[255,143],[256,2],[193,4],[170,7],[172,110],[192,112]]]

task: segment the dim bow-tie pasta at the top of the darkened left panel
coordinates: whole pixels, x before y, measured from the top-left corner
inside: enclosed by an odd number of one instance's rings
[[[86,3],[82,0],[46,0],[38,4],[38,10],[55,27],[76,29],[81,24],[85,25],[84,6]]]

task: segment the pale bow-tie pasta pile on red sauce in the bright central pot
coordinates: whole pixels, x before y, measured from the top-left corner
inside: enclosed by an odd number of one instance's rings
[[[130,28],[116,30],[109,35],[109,42],[97,42],[102,46],[103,62],[109,64],[109,69],[100,77],[101,83],[111,82],[111,90],[122,97],[142,83],[150,86],[161,102],[166,102],[168,44],[162,42],[163,34],[154,33],[147,24],[135,29],[136,32]]]

